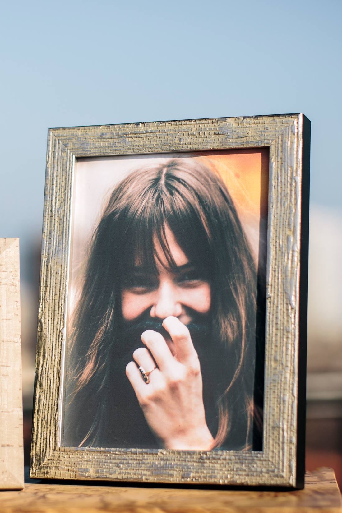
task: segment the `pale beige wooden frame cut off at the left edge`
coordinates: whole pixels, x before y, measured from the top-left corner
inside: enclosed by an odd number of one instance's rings
[[[19,239],[0,239],[0,489],[23,487]]]

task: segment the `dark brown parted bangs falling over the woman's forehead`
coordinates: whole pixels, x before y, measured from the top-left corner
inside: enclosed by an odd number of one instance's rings
[[[188,198],[184,191],[181,194],[174,189],[170,193],[166,185],[162,191],[153,191],[152,201],[152,191],[148,191],[143,201],[136,203],[136,209],[130,208],[125,214],[124,238],[120,241],[123,276],[137,265],[156,273],[157,265],[169,269],[177,267],[170,251],[167,228],[191,263],[201,268],[210,266],[210,243],[202,222],[202,209],[191,204],[193,196]]]

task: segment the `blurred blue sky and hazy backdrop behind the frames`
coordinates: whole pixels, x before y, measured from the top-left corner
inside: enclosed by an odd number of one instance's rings
[[[21,245],[26,464],[48,128],[304,112],[307,469],[342,486],[341,15],[338,0],[2,3],[0,237]]]

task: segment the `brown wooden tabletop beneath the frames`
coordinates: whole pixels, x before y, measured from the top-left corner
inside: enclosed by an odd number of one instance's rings
[[[334,472],[308,472],[304,490],[260,491],[58,484],[28,480],[24,490],[1,491],[1,513],[342,513]]]

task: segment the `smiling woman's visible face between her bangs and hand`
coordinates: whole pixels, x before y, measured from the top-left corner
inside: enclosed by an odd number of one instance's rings
[[[156,242],[157,273],[136,262],[127,277],[122,291],[124,321],[134,321],[146,312],[151,319],[164,320],[174,315],[183,324],[190,324],[196,314],[209,313],[211,290],[205,273],[189,262],[167,226],[165,233],[176,268],[168,267],[164,252]]]

